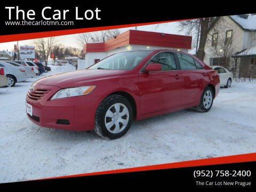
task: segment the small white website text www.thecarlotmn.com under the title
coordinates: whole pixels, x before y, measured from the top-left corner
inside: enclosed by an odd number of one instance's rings
[[[74,21],[5,21],[6,26],[71,26]]]

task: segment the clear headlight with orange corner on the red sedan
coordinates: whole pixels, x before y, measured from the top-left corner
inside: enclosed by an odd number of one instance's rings
[[[51,100],[53,99],[60,99],[60,98],[68,98],[68,97],[75,97],[79,95],[86,95],[91,93],[96,86],[81,86],[81,87],[74,87],[74,88],[67,88],[62,89],[55,93]]]

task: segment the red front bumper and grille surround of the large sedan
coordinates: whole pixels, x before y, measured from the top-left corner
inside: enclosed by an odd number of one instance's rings
[[[35,124],[54,129],[89,131],[94,129],[95,112],[101,102],[100,97],[83,95],[50,100],[60,90],[57,86],[35,84],[34,90],[50,90],[41,99],[34,100],[27,95],[26,101],[33,107],[33,116],[28,118]],[[69,122],[61,124],[60,122]]]

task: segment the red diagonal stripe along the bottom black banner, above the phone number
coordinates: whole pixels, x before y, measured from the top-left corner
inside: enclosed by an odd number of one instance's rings
[[[39,180],[74,178],[74,177],[84,177],[84,176],[92,176],[92,175],[115,174],[115,173],[130,173],[130,172],[139,172],[139,171],[165,170],[165,169],[174,169],[174,168],[182,168],[182,167],[219,165],[219,164],[231,164],[231,163],[243,163],[243,162],[256,162],[256,153],[232,155],[232,156],[225,156],[225,157],[214,157],[214,158],[208,158],[208,159],[199,159],[199,160],[177,162],[177,163],[141,166],[141,167],[119,169],[119,170],[112,170],[112,171],[75,174],[75,175],[45,178],[45,179],[39,179]]]

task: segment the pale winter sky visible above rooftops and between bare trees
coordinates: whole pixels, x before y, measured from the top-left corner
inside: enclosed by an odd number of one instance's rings
[[[125,31],[127,31],[129,29],[134,29],[134,27],[120,28],[120,31],[121,31],[121,33],[124,33]],[[169,22],[169,23],[163,23],[163,24],[158,24],[158,25],[138,26],[137,30],[185,35],[185,33],[183,33],[183,31],[179,31],[178,22]],[[76,47],[78,49],[82,49],[82,45],[79,44],[79,42],[76,39],[77,36],[78,36],[78,34],[63,35],[63,36],[57,36],[56,39],[58,41],[58,44],[62,44],[66,47],[71,46],[71,47]],[[34,39],[19,41],[19,46],[20,45],[33,45],[33,42],[34,42]],[[17,44],[17,42],[0,43],[0,50],[1,51],[2,50],[13,51],[14,44]]]

